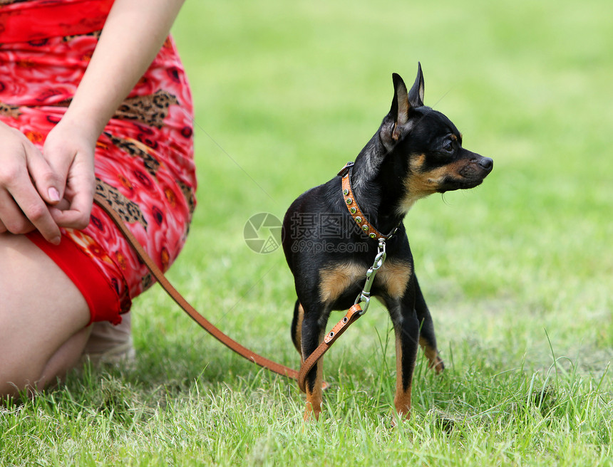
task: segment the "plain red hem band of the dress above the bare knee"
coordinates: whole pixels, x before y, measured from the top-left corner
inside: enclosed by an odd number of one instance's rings
[[[81,292],[91,315],[88,325],[95,321],[110,321],[114,325],[121,322],[117,291],[70,238],[62,237],[59,245],[53,245],[38,231],[27,234],[27,237],[66,273]]]

